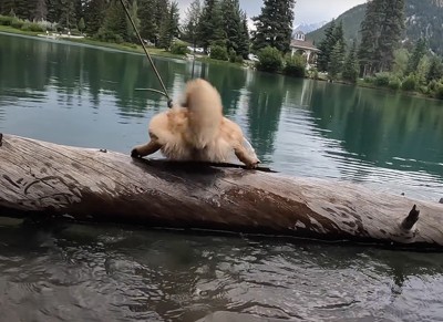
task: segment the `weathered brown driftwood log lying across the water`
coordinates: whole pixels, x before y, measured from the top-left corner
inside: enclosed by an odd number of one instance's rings
[[[443,205],[239,166],[0,138],[0,215],[443,249]]]

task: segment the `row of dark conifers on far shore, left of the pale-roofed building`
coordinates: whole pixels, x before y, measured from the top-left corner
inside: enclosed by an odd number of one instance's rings
[[[219,59],[245,59],[269,45],[289,51],[293,0],[264,0],[249,33],[239,0],[193,0],[181,17],[171,0],[124,0],[146,42],[169,50],[177,39]],[[136,42],[119,0],[0,0],[0,13],[47,22],[49,29],[85,33],[111,42]],[[182,19],[181,19],[182,18]]]

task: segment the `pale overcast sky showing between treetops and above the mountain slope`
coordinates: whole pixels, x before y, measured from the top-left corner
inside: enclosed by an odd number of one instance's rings
[[[176,0],[181,7],[182,17],[192,0]],[[200,0],[203,2],[203,0]],[[337,18],[348,9],[367,2],[367,0],[297,0],[295,7],[295,24],[316,23]],[[248,17],[260,13],[262,0],[240,0],[240,7]]]

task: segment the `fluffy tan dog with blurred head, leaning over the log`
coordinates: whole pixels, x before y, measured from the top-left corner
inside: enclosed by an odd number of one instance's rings
[[[254,149],[245,146],[241,128],[223,116],[222,98],[213,85],[202,79],[189,81],[183,101],[151,120],[151,141],[134,147],[132,156],[159,149],[173,160],[225,163],[234,152],[247,167],[259,164]]]

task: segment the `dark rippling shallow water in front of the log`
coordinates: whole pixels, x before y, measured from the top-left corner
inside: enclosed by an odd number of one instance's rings
[[[443,314],[436,253],[80,225],[0,225],[0,232],[2,312],[22,319],[29,313],[16,310],[21,305],[34,309],[37,321],[196,321],[215,311],[308,321]],[[423,302],[430,310],[416,310]]]

